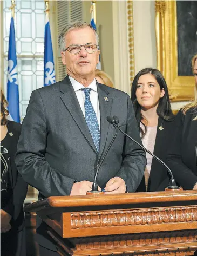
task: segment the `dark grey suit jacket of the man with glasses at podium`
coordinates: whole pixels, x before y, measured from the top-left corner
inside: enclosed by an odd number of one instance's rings
[[[99,153],[68,76],[52,86],[33,91],[23,120],[16,164],[24,180],[38,189],[39,199],[70,195],[75,181],[93,182],[97,163],[115,133],[107,116],[117,115],[121,129],[141,143],[130,97],[104,84],[97,83],[97,87],[101,123]],[[118,132],[99,170],[98,185],[103,188],[108,180],[119,176],[128,192],[134,192],[145,165],[143,150]]]

